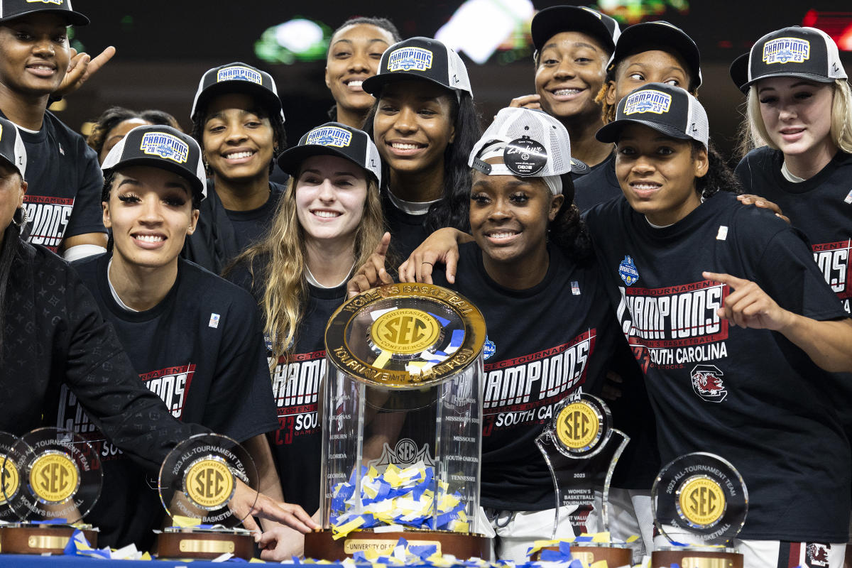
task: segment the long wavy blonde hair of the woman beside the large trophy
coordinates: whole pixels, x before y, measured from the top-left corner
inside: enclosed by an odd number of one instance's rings
[[[384,232],[378,184],[371,175],[366,175],[366,180],[364,216],[354,237],[356,267],[364,264],[376,250]],[[289,357],[296,343],[296,330],[308,301],[306,258],[305,231],[296,216],[296,177],[291,175],[268,234],[246,249],[231,265],[245,264],[252,284],[263,284],[263,298],[259,303],[263,314],[263,334],[272,345],[270,366],[277,364],[282,356]],[[255,274],[256,261],[258,274]]]

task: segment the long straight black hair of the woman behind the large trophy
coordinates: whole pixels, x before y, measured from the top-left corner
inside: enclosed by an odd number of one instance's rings
[[[455,227],[459,231],[469,232],[471,177],[468,157],[476,141],[480,139],[482,129],[473,98],[461,91],[458,98],[454,91],[447,89],[447,93],[451,101],[450,117],[456,129],[456,136],[444,151],[444,194],[438,203],[429,207],[424,227],[429,232],[443,227]],[[376,117],[379,100],[380,97],[367,113],[364,122],[364,131],[373,139],[373,118]],[[383,163],[383,191],[389,191],[389,173],[388,165]]]

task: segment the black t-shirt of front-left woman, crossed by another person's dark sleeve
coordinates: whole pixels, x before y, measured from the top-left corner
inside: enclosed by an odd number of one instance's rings
[[[111,255],[74,263],[101,313],[118,333],[135,370],[181,422],[243,442],[277,427],[265,347],[254,301],[245,290],[178,259],[175,285],[156,307],[129,312],[107,281]],[[164,516],[156,481],[147,481],[89,421],[73,393],[60,392],[56,426],[95,445],[104,470],[101,499],[87,521],[101,527],[99,546],[150,548]],[[131,513],[132,512],[132,513]]]

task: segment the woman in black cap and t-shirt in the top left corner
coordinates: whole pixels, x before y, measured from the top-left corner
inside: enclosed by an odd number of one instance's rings
[[[95,152],[47,112],[71,60],[67,26],[88,23],[67,3],[4,3],[0,16],[0,111],[25,129],[21,138],[32,164],[24,234],[69,260],[102,252],[107,244]]]

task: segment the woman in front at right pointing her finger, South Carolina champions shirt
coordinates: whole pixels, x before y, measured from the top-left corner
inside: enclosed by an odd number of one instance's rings
[[[648,83],[615,118],[597,136],[616,144],[625,199],[596,205],[586,222],[645,374],[661,461],[709,451],[740,471],[749,514],[734,545],[747,567],[796,564],[803,541],[831,542],[830,565],[843,565],[849,444],[830,385],[852,369],[852,320],[801,232],[738,203],[736,180],[708,153],[698,100]],[[699,384],[707,373],[712,392]]]

